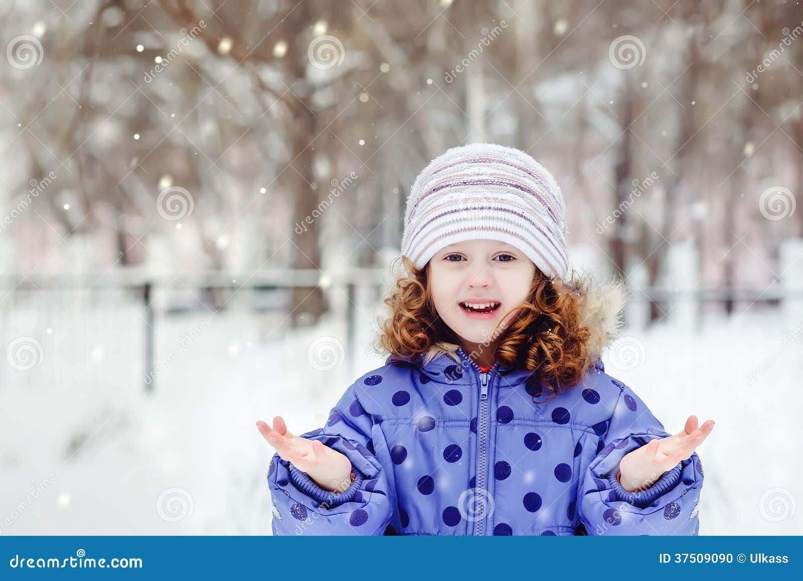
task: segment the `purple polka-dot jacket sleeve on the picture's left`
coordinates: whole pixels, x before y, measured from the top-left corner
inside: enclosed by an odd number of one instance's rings
[[[385,468],[374,456],[373,419],[357,399],[355,385],[349,387],[329,412],[324,428],[300,435],[308,440],[320,440],[321,444],[347,456],[352,463],[354,481],[343,492],[330,492],[275,453],[267,470],[273,534],[386,534],[396,501]]]

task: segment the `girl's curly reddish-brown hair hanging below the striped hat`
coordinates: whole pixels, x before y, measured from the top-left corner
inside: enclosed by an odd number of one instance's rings
[[[430,263],[416,268],[406,256],[400,258],[408,274],[397,276],[385,297],[390,313],[378,321],[381,330],[374,348],[399,357],[426,354],[434,346],[456,350],[459,337],[438,316],[432,301]],[[577,386],[593,367],[589,328],[581,324],[576,290],[536,268],[526,301],[491,333],[496,362],[531,371],[552,392],[542,401],[534,396],[534,403],[546,403],[560,391]]]

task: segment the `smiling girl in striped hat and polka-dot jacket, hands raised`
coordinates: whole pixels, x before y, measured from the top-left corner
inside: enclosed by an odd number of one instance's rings
[[[601,350],[621,281],[569,280],[552,175],[501,145],[416,178],[385,303],[385,365],[324,428],[257,422],[274,534],[696,534],[714,422],[671,436]]]

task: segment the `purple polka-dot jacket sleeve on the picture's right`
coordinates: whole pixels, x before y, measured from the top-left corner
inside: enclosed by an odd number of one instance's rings
[[[694,535],[699,530],[703,466],[697,452],[648,489],[629,493],[617,481],[619,462],[655,438],[671,436],[630,387],[621,391],[597,454],[581,481],[580,518],[589,535]]]

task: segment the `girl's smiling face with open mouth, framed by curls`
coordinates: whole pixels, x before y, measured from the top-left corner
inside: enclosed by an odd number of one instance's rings
[[[535,274],[532,260],[510,244],[466,240],[430,259],[430,292],[438,315],[463,339],[465,350],[492,349],[494,329],[505,313],[527,300]]]

